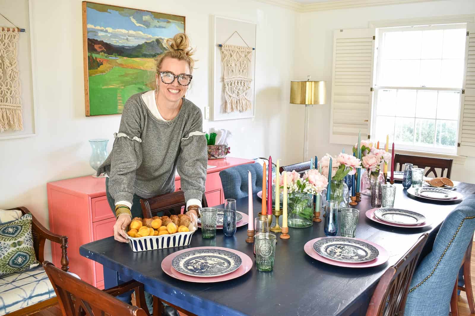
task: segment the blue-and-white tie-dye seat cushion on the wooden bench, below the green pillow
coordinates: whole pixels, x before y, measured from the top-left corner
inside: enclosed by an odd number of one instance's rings
[[[53,297],[56,293],[43,266],[0,279],[0,315]]]

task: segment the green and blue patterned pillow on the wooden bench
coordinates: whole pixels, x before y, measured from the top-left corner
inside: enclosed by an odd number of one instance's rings
[[[0,225],[0,278],[38,266],[31,235],[31,214]]]

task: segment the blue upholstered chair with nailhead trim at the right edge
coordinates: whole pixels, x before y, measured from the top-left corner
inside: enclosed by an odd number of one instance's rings
[[[474,230],[475,195],[471,195],[447,216],[432,251],[414,272],[405,316],[448,315],[458,271]]]

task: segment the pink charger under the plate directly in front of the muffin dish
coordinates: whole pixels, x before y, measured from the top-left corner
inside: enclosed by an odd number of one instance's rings
[[[241,265],[239,268],[237,268],[235,271],[225,274],[225,275],[220,275],[218,277],[193,277],[190,275],[186,275],[183,273],[180,273],[176,271],[172,266],[171,262],[173,259],[179,255],[180,253],[185,253],[190,250],[194,249],[221,249],[221,250],[227,250],[232,253],[236,253],[239,257],[241,257]],[[177,251],[176,253],[171,253],[169,254],[163,261],[161,262],[161,270],[171,276],[172,278],[182,280],[182,281],[188,281],[188,282],[196,282],[196,283],[212,283],[212,282],[222,282],[222,281],[227,281],[227,280],[232,280],[236,279],[244,274],[246,274],[249,270],[252,268],[252,260],[251,258],[246,254],[246,253],[241,253],[240,251],[231,249],[231,248],[224,248],[224,247],[192,247],[192,248],[187,248],[183,249],[180,251]]]

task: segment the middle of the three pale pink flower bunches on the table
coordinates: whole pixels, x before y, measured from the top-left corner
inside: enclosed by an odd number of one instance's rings
[[[323,156],[319,162],[322,167],[322,174],[328,179],[328,169],[330,167],[330,154]],[[356,168],[361,167],[360,159],[353,157],[347,153],[340,153],[336,157],[332,157],[332,180],[341,181],[346,175],[356,173]]]

